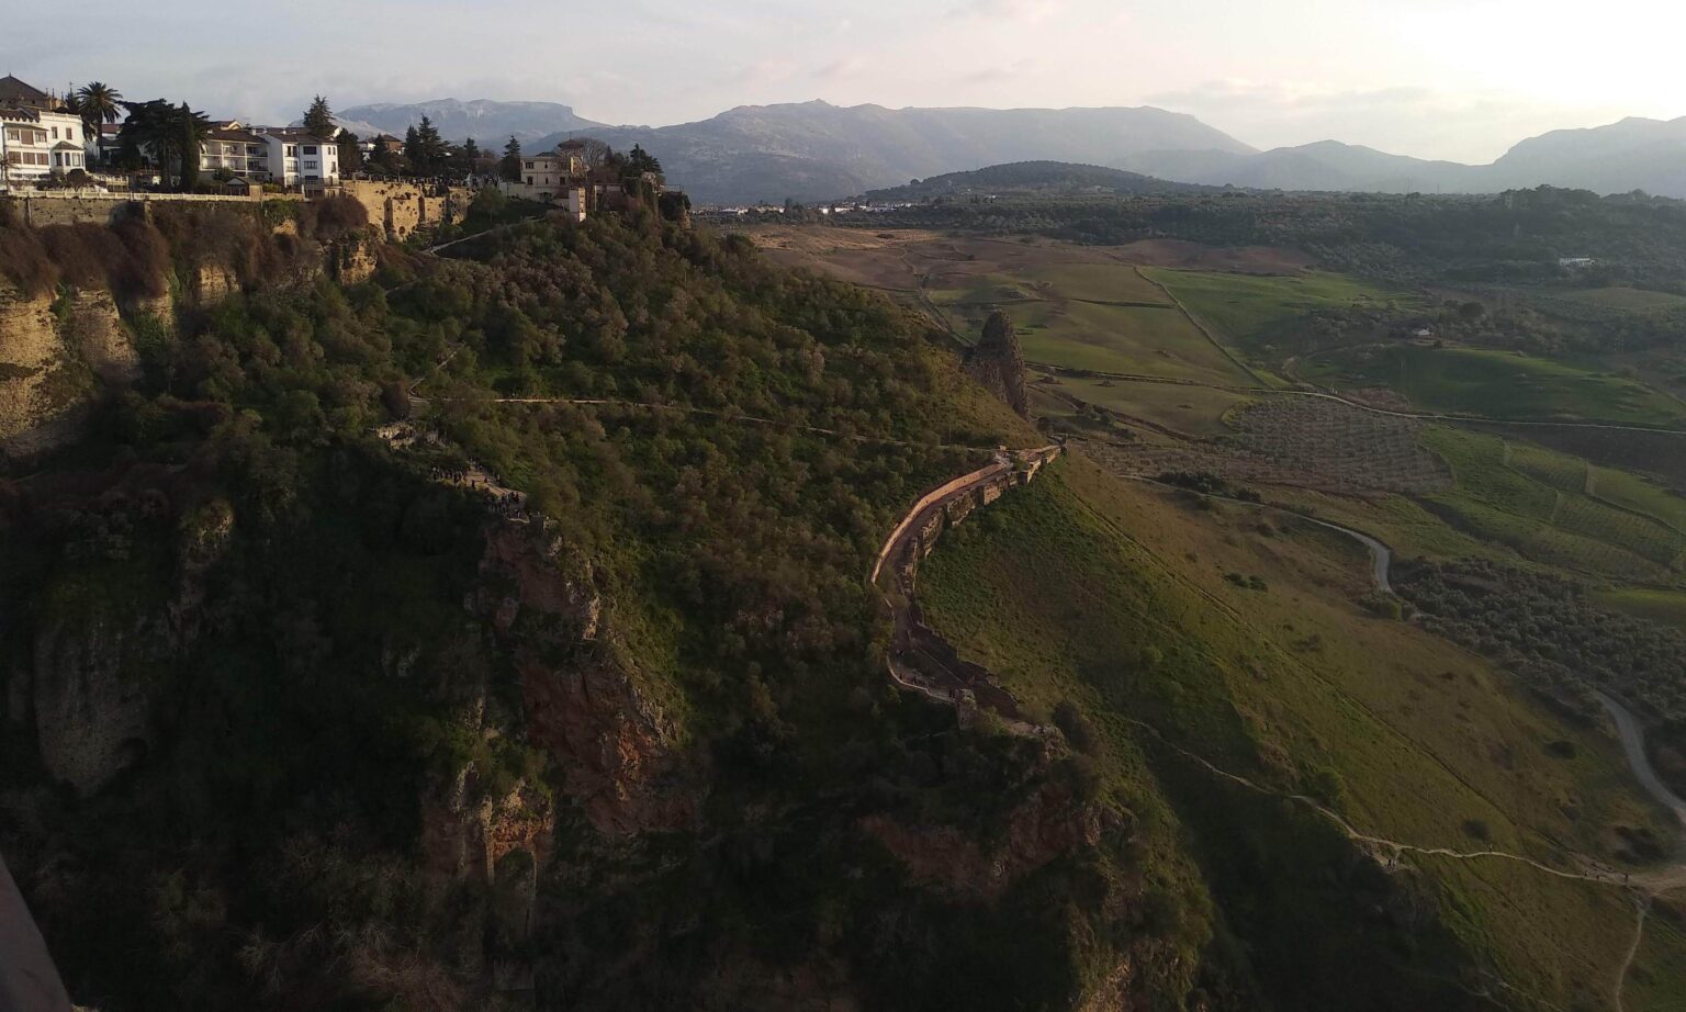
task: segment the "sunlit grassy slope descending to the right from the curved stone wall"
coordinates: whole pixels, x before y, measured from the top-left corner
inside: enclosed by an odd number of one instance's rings
[[[1175,503],[1071,460],[948,535],[922,570],[922,600],[937,629],[1034,708],[1079,700],[1106,740],[1103,767],[1148,764],[1264,973],[1349,951],[1327,934],[1339,891],[1307,891],[1290,870],[1340,860],[1335,843],[1302,806],[1167,754],[1135,720],[1275,789],[1329,793],[1364,830],[1423,845],[1460,847],[1480,820],[1494,847],[1553,860],[1548,840],[1597,850],[1605,820],[1651,818],[1614,742],[1553,720],[1421,629],[1357,619],[1349,595],[1364,565],[1350,545],[1293,525],[1264,536],[1256,511]],[[1268,590],[1239,589],[1226,572]],[[1573,742],[1575,759],[1548,757],[1553,740]],[[1568,815],[1565,798],[1615,808]],[[1610,966],[1632,938],[1620,891],[1509,862],[1409,864],[1404,879],[1431,884],[1425,899],[1507,983],[1553,1005],[1605,1007]],[[1384,946],[1362,948],[1364,973],[1391,973],[1376,958]],[[1681,956],[1664,936],[1637,970],[1678,987]],[[1367,1007],[1369,982],[1350,985],[1345,1005],[1305,1007]]]

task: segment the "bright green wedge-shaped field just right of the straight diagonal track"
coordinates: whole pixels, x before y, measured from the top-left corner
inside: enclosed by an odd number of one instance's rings
[[[1238,275],[1148,268],[1194,315],[1239,347],[1258,353],[1283,326],[1313,309],[1344,305],[1418,305],[1421,300],[1325,272]]]

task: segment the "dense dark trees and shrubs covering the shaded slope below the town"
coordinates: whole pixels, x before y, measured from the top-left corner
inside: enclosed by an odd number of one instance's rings
[[[1125,815],[988,902],[860,828],[988,850],[1039,798],[1096,805],[1059,749],[894,693],[863,579],[964,447],[1034,435],[900,310],[738,241],[636,213],[467,253],[182,304],[91,439],[0,486],[7,698],[46,713],[93,692],[72,671],[126,693],[86,703],[128,740],[79,791],[54,786],[79,739],[7,710],[0,845],[72,992],[496,1007],[513,966],[541,1007],[1027,1009],[1130,960],[1180,1002],[1200,914],[1133,899]],[[406,415],[442,442],[373,435]],[[595,638],[472,604],[511,590],[486,568],[509,521],[437,481],[470,459],[548,518],[538,565],[604,602]],[[541,734],[534,658],[624,671],[663,713],[658,801],[617,784],[647,832],[578,794],[590,751]],[[462,870],[440,845],[475,811],[550,813],[553,852]]]

